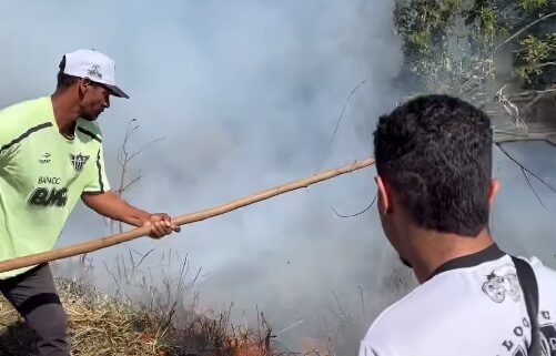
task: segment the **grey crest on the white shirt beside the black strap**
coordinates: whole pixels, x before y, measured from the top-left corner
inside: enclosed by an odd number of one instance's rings
[[[515,267],[505,265],[494,269],[483,283],[483,292],[495,303],[504,302],[506,295],[509,295],[514,302],[518,302],[522,298],[522,289]]]

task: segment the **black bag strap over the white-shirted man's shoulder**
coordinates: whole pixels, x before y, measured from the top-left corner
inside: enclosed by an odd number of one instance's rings
[[[535,272],[533,267],[522,258],[512,256],[514,261],[515,269],[517,273],[517,278],[519,279],[519,285],[522,286],[523,296],[525,298],[525,305],[527,306],[527,314],[529,315],[530,322],[530,345],[527,349],[528,356],[540,356],[543,355],[543,349],[540,346],[539,332],[538,332],[538,285],[537,278],[535,277]]]

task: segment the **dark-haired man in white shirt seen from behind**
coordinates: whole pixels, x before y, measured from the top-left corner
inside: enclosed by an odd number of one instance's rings
[[[384,233],[421,285],[374,321],[360,356],[555,356],[556,272],[489,233],[487,115],[421,96],[380,118],[374,149]]]

